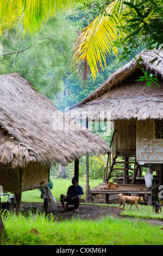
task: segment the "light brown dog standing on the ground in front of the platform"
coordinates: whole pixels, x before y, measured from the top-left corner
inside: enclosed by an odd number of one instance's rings
[[[120,208],[120,206],[123,204],[123,211],[124,211],[124,207],[126,205],[126,203],[129,203],[130,204],[130,210],[131,210],[131,206],[133,204],[136,205],[137,207],[137,210],[139,210],[139,207],[137,206],[137,203],[138,202],[141,202],[143,203],[144,200],[143,200],[143,197],[136,197],[136,196],[122,196],[122,194],[118,194],[118,197],[120,197],[120,200],[121,200],[121,204],[118,206],[118,208]]]

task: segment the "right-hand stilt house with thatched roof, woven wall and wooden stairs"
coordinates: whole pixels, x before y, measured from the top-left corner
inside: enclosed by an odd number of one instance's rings
[[[140,62],[139,62],[140,60]],[[147,86],[146,81],[136,81],[154,74],[156,85]],[[153,186],[163,185],[163,53],[143,50],[136,58],[122,66],[83,101],[73,106],[72,117],[82,115],[89,120],[111,120],[114,134],[111,141],[112,156],[108,157],[105,179],[114,179],[120,191],[128,194],[148,194],[151,204],[152,188],[145,186],[141,168],[153,173]],[[117,167],[118,157],[123,167]],[[123,160],[123,161],[122,161]],[[131,168],[130,161],[134,167]],[[109,167],[109,172],[108,172]],[[116,176],[116,169],[123,170]],[[129,171],[133,169],[133,175]],[[139,187],[139,186],[140,187]],[[120,193],[114,191],[114,193]],[[138,191],[138,192],[137,192]],[[102,193],[99,187],[90,193]],[[108,191],[108,194],[112,191]],[[106,192],[103,192],[106,193]]]

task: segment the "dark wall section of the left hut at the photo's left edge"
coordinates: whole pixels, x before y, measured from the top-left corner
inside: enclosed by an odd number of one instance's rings
[[[0,164],[0,185],[3,192],[20,192],[20,168],[13,169],[9,164]]]

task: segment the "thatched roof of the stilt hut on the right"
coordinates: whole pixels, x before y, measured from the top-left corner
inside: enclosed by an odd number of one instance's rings
[[[156,84],[147,86],[146,82],[136,82],[142,76],[137,60],[141,56],[141,66],[154,74]],[[114,74],[90,93],[83,101],[71,109],[71,117],[103,120],[138,120],[163,118],[163,53],[157,50],[143,50],[136,58],[122,66]],[[151,63],[155,59],[154,63]]]

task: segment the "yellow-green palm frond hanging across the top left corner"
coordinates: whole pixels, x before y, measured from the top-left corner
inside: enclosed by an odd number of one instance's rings
[[[1,0],[0,1],[0,35],[5,27],[24,28],[30,34],[39,30],[44,22],[55,17],[57,13],[65,13],[73,9],[75,4],[83,0]]]

